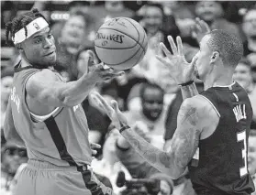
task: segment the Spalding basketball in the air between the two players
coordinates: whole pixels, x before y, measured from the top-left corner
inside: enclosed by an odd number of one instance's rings
[[[148,38],[143,27],[128,17],[109,19],[97,31],[98,58],[115,70],[128,70],[143,59]]]

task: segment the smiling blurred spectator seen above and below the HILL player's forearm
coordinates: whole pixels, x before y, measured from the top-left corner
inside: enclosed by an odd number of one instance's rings
[[[158,148],[163,147],[165,134],[163,110],[163,90],[156,84],[142,83],[140,88],[141,109],[125,112],[129,124],[135,131]],[[117,139],[117,157],[128,168],[132,178],[149,178],[159,172],[139,156],[122,136]]]

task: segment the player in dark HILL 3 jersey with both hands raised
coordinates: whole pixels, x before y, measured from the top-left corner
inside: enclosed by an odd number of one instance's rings
[[[181,38],[177,38],[177,46],[172,37],[168,39],[173,54],[161,43],[167,58],[157,59],[181,86],[184,103],[166,152],[151,146],[128,126],[117,102],[110,105],[98,93],[95,102],[153,167],[173,179],[188,167],[198,195],[250,194],[255,190],[247,168],[252,109],[245,90],[232,81],[243,53],[241,41],[222,30],[210,31],[202,38],[192,63],[188,63]],[[205,92],[201,94],[195,88],[195,75],[204,81]]]

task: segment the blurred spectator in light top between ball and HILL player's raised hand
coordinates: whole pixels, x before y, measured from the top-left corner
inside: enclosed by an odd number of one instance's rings
[[[144,59],[133,70],[140,77],[145,77],[149,81],[161,85],[161,74],[166,72],[166,69],[165,67],[159,69],[159,61],[155,55],[163,55],[159,46],[160,42],[164,42],[167,47],[170,47],[167,36],[178,36],[180,34],[179,28],[176,26],[173,16],[164,15],[161,4],[143,5],[138,11],[138,17],[140,18],[140,25],[145,28],[148,36],[148,49]]]

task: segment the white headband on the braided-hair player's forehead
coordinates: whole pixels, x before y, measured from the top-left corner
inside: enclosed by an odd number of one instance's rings
[[[38,17],[37,19],[33,20],[30,22],[26,27],[27,27],[27,32],[28,35],[26,37],[25,35],[25,28],[21,28],[20,30],[17,31],[15,34],[13,41],[14,44],[21,43],[22,41],[26,40],[27,38],[31,37],[35,33],[39,32],[41,29],[44,27],[48,27],[49,24],[43,17]]]

